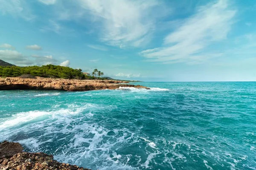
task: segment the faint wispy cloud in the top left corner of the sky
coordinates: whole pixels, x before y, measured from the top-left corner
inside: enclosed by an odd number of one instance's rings
[[[25,0],[0,0],[0,4],[0,11],[3,15],[11,14],[28,21],[35,18]]]

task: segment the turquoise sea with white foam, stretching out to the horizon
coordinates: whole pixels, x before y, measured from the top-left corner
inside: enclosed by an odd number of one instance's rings
[[[255,170],[256,82],[0,91],[0,142],[93,170]]]

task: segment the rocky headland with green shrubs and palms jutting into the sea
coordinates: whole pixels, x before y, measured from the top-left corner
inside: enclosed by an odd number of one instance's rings
[[[81,69],[59,65],[19,67],[3,60],[0,61],[1,63],[4,65],[0,66],[0,90],[91,91],[119,87],[149,89],[128,84],[129,81],[105,78],[104,73],[98,69],[94,69],[93,73],[89,74],[82,72]]]

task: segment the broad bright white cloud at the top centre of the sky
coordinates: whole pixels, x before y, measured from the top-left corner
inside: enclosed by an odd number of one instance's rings
[[[102,23],[101,40],[110,45],[139,46],[154,28],[154,17],[149,11],[156,1],[81,0],[82,8],[89,10],[94,21]],[[146,17],[148,16],[148,17]]]

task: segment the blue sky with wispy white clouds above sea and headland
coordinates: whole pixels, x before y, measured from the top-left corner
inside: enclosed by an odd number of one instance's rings
[[[0,0],[0,59],[116,79],[256,81],[256,0]]]

